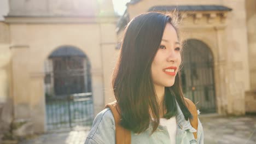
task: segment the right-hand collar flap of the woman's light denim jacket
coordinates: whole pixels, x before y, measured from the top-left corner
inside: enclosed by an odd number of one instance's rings
[[[176,101],[176,105],[177,105],[176,121],[177,121],[177,124],[179,125],[179,127],[181,127],[181,129],[184,129],[184,130],[189,130],[191,133],[196,132],[196,129],[194,129],[191,126],[189,119],[188,119],[188,121],[185,119],[185,117],[182,113],[182,110],[179,107],[179,104],[177,103],[177,101]]]

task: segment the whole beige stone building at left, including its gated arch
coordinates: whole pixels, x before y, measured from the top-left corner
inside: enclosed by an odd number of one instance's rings
[[[91,124],[110,92],[118,18],[111,0],[10,0],[0,22],[1,127],[26,135]]]

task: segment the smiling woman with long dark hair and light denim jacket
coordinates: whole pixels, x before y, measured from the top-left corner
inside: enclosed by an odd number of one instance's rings
[[[129,131],[131,143],[203,143],[195,105],[183,98],[181,63],[182,46],[170,16],[145,13],[127,25],[113,89],[118,125]],[[114,144],[116,128],[106,108],[96,116],[85,143]]]

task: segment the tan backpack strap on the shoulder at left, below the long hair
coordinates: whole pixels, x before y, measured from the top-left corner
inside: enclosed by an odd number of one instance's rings
[[[131,131],[121,127],[120,125],[120,108],[117,101],[109,103],[105,108],[109,107],[115,119],[115,143],[116,144],[131,144]]]

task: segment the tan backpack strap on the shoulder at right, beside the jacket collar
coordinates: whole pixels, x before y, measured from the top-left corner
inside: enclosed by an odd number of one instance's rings
[[[184,98],[184,100],[185,100],[185,105],[188,107],[189,112],[193,116],[193,118],[189,118],[190,124],[192,125],[193,128],[195,128],[197,130],[197,127],[198,127],[198,119],[197,119],[198,114],[197,114],[196,106],[195,106],[195,104],[191,100],[189,100],[187,98]],[[193,133],[193,134],[194,134],[195,139],[197,139],[196,132]]]

